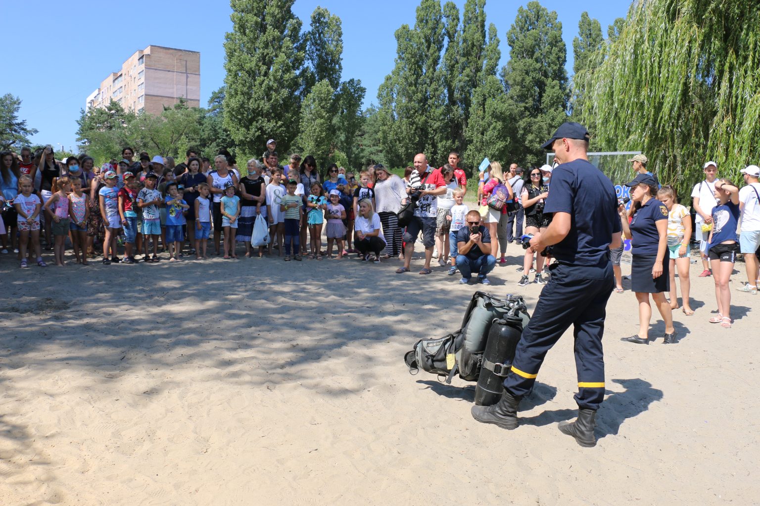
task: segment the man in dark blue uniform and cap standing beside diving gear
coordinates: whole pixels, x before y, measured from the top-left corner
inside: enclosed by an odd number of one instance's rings
[[[518,426],[518,404],[533,388],[546,352],[570,325],[574,328],[578,372],[578,420],[559,430],[581,446],[594,446],[597,409],[604,398],[602,335],[607,300],[615,281],[610,247],[619,247],[620,218],[612,182],[588,162],[588,131],[578,123],[562,124],[543,144],[559,165],[543,212],[553,213],[543,234],[530,240],[534,251],[553,246],[557,262],[541,291],[536,310],[524,329],[504,393],[494,406],[474,406],[475,420],[504,429]]]

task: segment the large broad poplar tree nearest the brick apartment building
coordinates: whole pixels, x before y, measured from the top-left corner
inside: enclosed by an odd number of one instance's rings
[[[231,0],[233,30],[226,34],[224,126],[245,152],[268,138],[288,152],[298,133],[304,49],[295,0]]]

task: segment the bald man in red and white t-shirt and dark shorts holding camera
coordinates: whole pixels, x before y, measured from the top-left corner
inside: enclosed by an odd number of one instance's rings
[[[412,255],[414,254],[414,241],[420,232],[423,233],[423,245],[425,246],[425,266],[420,274],[430,274],[430,260],[432,249],[435,246],[435,215],[438,214],[438,206],[435,197],[446,193],[446,183],[441,171],[434,171],[428,165],[425,153],[418,153],[414,157],[414,170],[409,177],[407,186],[408,198],[416,200],[414,216],[404,232],[404,267],[397,269],[396,273],[410,271]]]

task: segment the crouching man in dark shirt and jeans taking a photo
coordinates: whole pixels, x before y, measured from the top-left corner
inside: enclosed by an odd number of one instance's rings
[[[480,225],[480,212],[473,209],[464,217],[464,227],[457,232],[457,269],[462,274],[460,284],[470,282],[477,272],[477,282],[491,284],[486,275],[496,267],[496,256],[491,254],[491,234]]]

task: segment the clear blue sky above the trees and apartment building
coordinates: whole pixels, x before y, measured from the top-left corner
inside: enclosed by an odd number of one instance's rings
[[[0,74],[0,93],[21,98],[21,118],[40,130],[34,143],[51,143],[56,150],[61,144],[75,151],[76,120],[87,96],[109,73],[119,70],[129,55],[151,44],[201,52],[201,105],[223,84],[224,34],[232,27],[230,4],[224,0],[2,3],[6,23],[20,31],[3,41],[11,68]],[[455,3],[464,10],[464,0]],[[502,64],[508,60],[505,34],[518,7],[526,3],[486,3],[486,26],[493,23],[499,30]],[[625,17],[630,2],[543,0],[541,4],[557,11],[572,72],[572,39],[578,33],[581,12],[597,18],[606,34],[608,24]],[[378,86],[394,66],[394,31],[401,24],[414,24],[419,2],[297,0],[293,11],[304,27],[318,5],[343,21],[344,79],[361,79],[367,88],[365,105],[376,102]]]

